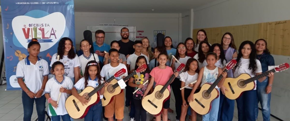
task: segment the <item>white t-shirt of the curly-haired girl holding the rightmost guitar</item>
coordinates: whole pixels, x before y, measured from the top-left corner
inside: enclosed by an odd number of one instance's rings
[[[261,66],[261,63],[258,59],[256,59],[256,63],[257,63],[256,73],[262,72],[262,66]],[[238,67],[235,69],[234,78],[240,76],[243,73],[247,73],[251,77],[256,76],[256,75],[253,75],[252,70],[249,69],[250,59],[244,59],[243,57],[241,57],[240,63],[237,63],[237,64],[238,64]],[[255,82],[254,90],[256,90],[257,80],[255,80],[254,82]]]

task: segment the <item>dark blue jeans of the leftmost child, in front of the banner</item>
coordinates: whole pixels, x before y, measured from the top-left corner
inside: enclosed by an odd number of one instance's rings
[[[22,91],[22,104],[23,104],[23,111],[24,111],[23,120],[31,121],[34,101],[36,105],[38,121],[44,121],[46,98],[44,97],[44,95],[42,95],[40,98],[30,98],[24,91]]]

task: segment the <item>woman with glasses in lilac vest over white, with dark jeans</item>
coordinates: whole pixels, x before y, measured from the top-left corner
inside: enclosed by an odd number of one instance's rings
[[[226,62],[231,61],[231,59],[238,56],[236,46],[234,43],[233,35],[230,32],[224,33],[221,40],[221,45],[224,50],[224,55],[226,57]],[[228,71],[228,77],[233,78],[233,70]],[[222,121],[233,120],[234,113],[234,100],[226,98],[222,93],[220,93],[220,109],[218,112],[218,119]]]

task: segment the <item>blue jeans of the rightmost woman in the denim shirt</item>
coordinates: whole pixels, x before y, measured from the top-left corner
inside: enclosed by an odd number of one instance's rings
[[[270,100],[271,100],[271,93],[266,94],[266,87],[268,86],[268,77],[263,81],[257,81],[257,100],[255,105],[255,116],[256,119],[258,118],[258,103],[260,102],[262,107],[262,114],[263,114],[263,121],[270,120]]]

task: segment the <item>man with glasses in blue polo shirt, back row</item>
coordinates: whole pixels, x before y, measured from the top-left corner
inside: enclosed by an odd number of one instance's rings
[[[109,52],[110,46],[104,43],[105,32],[103,30],[97,30],[95,32],[96,42],[93,42],[94,51],[99,57],[99,61],[103,63],[105,52]]]

